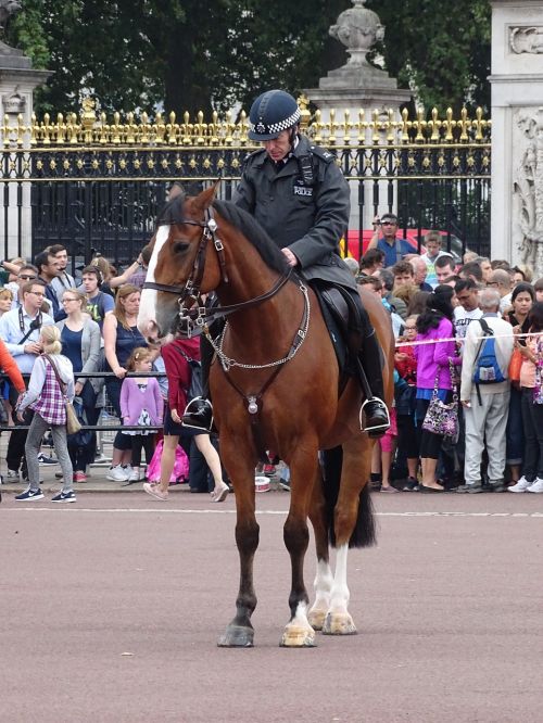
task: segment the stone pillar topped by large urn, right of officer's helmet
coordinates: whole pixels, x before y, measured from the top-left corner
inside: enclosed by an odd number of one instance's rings
[[[376,40],[384,36],[384,27],[377,13],[365,8],[366,0],[352,0],[353,8],[345,10],[330,27],[330,35],[346,47],[349,60],[340,68],[330,71],[320,78],[318,88],[307,88],[304,92],[320,111],[323,123],[330,122],[330,111],[336,111],[336,120],[348,112],[352,122],[356,122],[361,111],[366,120],[371,120],[377,112],[384,120],[400,120],[400,106],[411,100],[409,90],[397,88],[395,78],[386,71],[375,67],[366,60],[366,54]],[[392,111],[392,113],[391,113]],[[366,142],[371,144],[372,130],[367,129]],[[341,142],[341,140],[340,140]],[[367,199],[371,198],[372,183],[365,182]],[[382,202],[378,213],[388,211],[387,185],[379,192]],[[370,203],[364,206],[363,228],[371,228],[374,210]],[[351,228],[358,228],[358,189],[351,185]]]

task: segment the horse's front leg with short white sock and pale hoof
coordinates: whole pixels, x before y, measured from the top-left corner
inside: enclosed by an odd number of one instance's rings
[[[307,619],[310,598],[305,589],[303,566],[310,542],[307,515],[318,465],[317,448],[296,452],[290,460],[291,499],[285,522],[285,545],[290,554],[292,581],[289,595],[291,618],[281,638],[285,647],[314,647],[315,631]]]

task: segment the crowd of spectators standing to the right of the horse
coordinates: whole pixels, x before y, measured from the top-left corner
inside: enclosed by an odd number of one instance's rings
[[[413,253],[393,214],[375,227],[351,267],[381,299],[396,339],[393,423],[376,445],[372,487],[543,492],[543,278],[472,252],[455,258],[434,231],[425,253]],[[496,376],[476,383],[487,334]],[[454,439],[422,428],[434,390],[444,403],[458,399]]]

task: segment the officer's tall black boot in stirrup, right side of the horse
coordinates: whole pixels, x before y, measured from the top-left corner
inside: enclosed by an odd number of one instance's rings
[[[361,409],[361,429],[367,432],[368,436],[381,436],[390,427],[390,415],[383,402],[381,351],[374,329],[364,337],[358,360],[362,363],[366,377],[365,380],[361,380],[366,395],[366,401]],[[369,386],[369,390],[366,390],[365,386]],[[365,422],[363,417],[365,417]]]

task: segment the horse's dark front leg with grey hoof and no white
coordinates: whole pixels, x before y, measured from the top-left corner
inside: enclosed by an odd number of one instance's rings
[[[223,447],[222,447],[223,452]],[[256,607],[256,594],[253,586],[253,560],[258,547],[258,524],[255,517],[254,466],[240,468],[242,455],[237,453],[237,460],[228,467],[228,455],[224,455],[226,469],[232,480],[236,494],[236,544],[240,559],[240,584],[236,599],[236,616],[218,639],[219,647],[249,648],[253,646],[254,630],[251,616]]]

